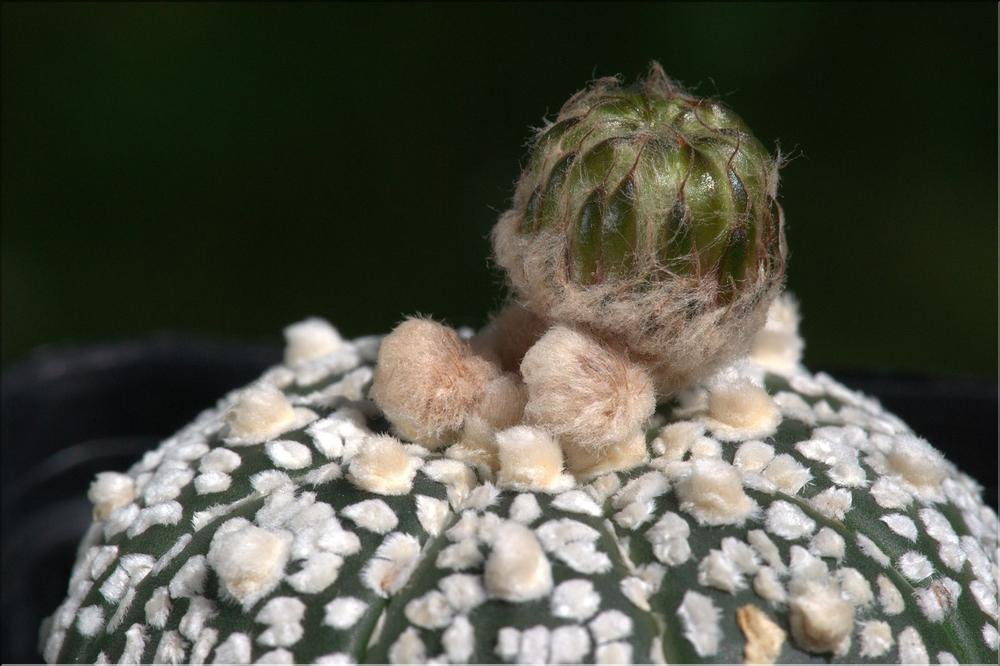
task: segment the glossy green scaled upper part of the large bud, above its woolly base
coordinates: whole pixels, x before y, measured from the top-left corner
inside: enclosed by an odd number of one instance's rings
[[[521,231],[564,230],[570,278],[628,277],[650,255],[669,276],[712,278],[727,302],[780,260],[773,161],[721,104],[615,89],[537,140]]]

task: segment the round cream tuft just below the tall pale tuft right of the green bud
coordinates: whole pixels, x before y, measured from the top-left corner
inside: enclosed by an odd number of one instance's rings
[[[739,442],[773,435],[781,412],[767,391],[744,382],[709,392],[705,422],[719,439]]]

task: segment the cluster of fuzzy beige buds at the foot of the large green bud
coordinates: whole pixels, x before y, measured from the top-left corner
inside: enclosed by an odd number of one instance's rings
[[[646,456],[653,380],[628,352],[513,305],[470,341],[408,319],[379,351],[372,399],[395,432],[499,472],[503,485],[559,487]]]

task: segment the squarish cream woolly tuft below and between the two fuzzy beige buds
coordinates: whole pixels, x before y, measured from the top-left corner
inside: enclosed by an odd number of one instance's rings
[[[497,484],[523,490],[558,486],[563,471],[562,449],[539,428],[516,426],[496,435],[500,471]]]

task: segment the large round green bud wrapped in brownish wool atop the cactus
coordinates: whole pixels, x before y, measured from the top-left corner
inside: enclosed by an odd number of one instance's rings
[[[646,358],[670,393],[745,351],[780,289],[777,167],[657,63],[601,79],[536,137],[495,257],[528,308]]]

